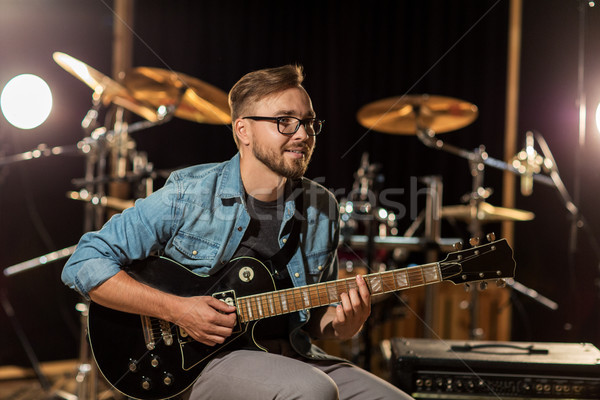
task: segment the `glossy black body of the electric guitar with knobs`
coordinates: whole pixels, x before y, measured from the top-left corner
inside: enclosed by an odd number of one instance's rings
[[[161,257],[134,263],[126,271],[164,292],[212,295],[232,305],[237,297],[276,289],[268,269],[247,257],[232,260],[210,277]],[[252,340],[256,323],[238,323],[225,343],[211,347],[191,339],[175,324],[91,303],[88,336],[100,372],[117,390],[138,399],[167,399],[189,388],[217,352],[259,348]]]

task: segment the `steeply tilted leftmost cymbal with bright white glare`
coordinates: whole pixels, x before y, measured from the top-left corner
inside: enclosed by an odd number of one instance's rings
[[[52,54],[52,58],[64,70],[88,85],[94,91],[94,99],[101,99],[105,106],[114,103],[148,121],[158,121],[156,109],[135,99],[123,85],[115,80],[68,54],[57,51]]]

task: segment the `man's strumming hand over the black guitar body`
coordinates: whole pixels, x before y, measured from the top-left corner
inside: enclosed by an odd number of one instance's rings
[[[235,327],[235,307],[212,296],[182,297],[173,322],[208,346],[225,342]]]

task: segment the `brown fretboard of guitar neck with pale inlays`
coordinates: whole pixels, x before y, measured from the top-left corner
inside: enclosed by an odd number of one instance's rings
[[[379,295],[442,281],[439,263],[364,275],[371,295]],[[357,288],[355,278],[238,297],[238,316],[250,322],[295,311],[326,306],[340,301],[340,295]]]

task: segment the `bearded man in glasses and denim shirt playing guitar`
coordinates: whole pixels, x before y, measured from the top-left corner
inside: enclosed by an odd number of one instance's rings
[[[151,288],[122,266],[161,251],[196,274],[214,276],[245,256],[267,260],[278,289],[336,279],[337,203],[325,188],[302,178],[323,124],[302,81],[302,69],[290,65],[242,77],[229,93],[239,153],[221,164],[173,173],[163,188],[99,232],[85,234],[65,265],[63,281],[95,303],[170,321],[196,341],[218,346],[234,332],[236,307],[211,293],[185,297]],[[254,276],[245,274],[241,280]],[[360,276],[356,288],[339,300],[337,306],[260,321],[253,340],[217,352],[186,395],[410,398],[311,345],[309,336],[351,338],[370,314],[369,290]],[[257,351],[254,341],[269,352]]]

